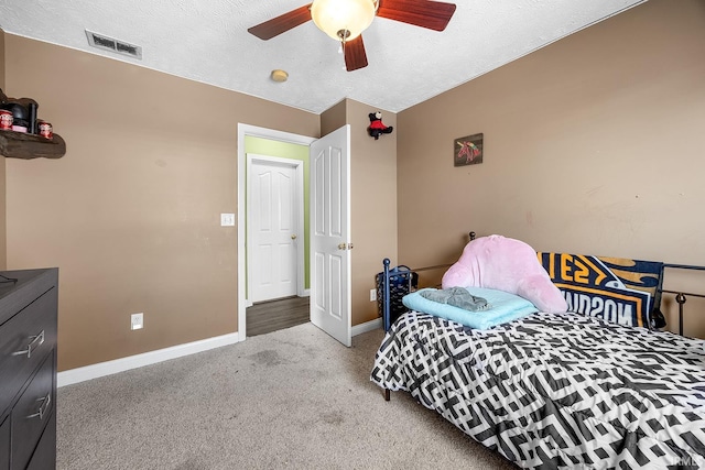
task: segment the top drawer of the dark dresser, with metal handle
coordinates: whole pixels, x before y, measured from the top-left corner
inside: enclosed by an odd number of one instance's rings
[[[0,326],[0,413],[54,349],[56,304],[52,288]]]

